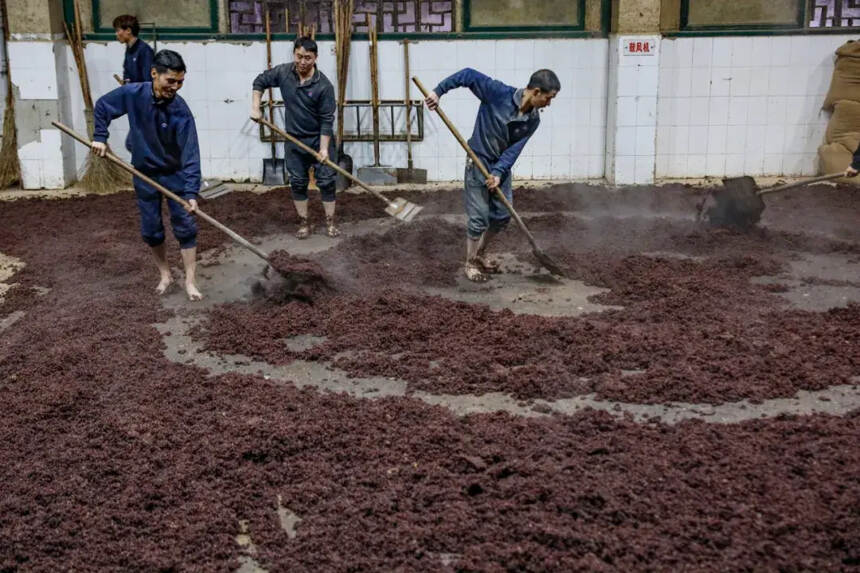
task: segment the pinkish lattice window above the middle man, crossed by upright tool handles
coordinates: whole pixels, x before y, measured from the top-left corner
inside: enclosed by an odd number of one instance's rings
[[[265,5],[269,5],[272,32],[289,32],[299,24],[313,26],[318,34],[332,33],[332,0],[230,0],[230,32],[265,32]],[[373,15],[381,34],[391,32],[430,33],[454,31],[454,0],[400,0],[394,2],[356,0],[353,32],[367,32],[367,16]]]

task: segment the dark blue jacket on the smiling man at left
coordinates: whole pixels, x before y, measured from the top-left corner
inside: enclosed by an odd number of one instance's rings
[[[200,147],[194,116],[181,97],[156,102],[152,82],[126,84],[99,98],[93,139],[106,143],[108,126],[128,114],[131,163],[151,177],[181,175],[184,198],[200,190]]]

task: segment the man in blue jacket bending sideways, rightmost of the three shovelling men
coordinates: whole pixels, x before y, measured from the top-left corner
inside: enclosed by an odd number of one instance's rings
[[[480,169],[466,160],[463,197],[469,222],[464,271],[469,280],[483,282],[499,272],[498,264],[486,257],[487,246],[511,218],[490,190],[501,189],[513,202],[511,169],[540,124],[538,110],[549,106],[561,84],[551,70],[538,70],[525,88],[516,89],[465,68],[439,82],[426,100],[427,107],[436,109],[440,97],[459,87],[469,88],[481,100],[469,147],[490,172],[489,179],[484,179]]]

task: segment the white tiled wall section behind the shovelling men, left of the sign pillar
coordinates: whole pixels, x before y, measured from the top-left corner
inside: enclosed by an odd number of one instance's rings
[[[248,119],[248,111],[251,84],[265,68],[265,44],[159,42],[159,48],[176,50],[188,66],[180,94],[197,121],[204,176],[259,181],[262,159],[270,155],[270,148],[259,141],[257,125]],[[318,65],[335,83],[333,43],[320,42],[319,49]],[[467,66],[517,87],[525,86],[535,70],[553,69],[562,90],[544,110],[544,121],[517,161],[514,175],[526,179],[594,178],[604,173],[607,49],[607,41],[600,39],[415,42],[410,44],[410,69],[428,89]],[[275,63],[288,61],[291,52],[291,42],[272,46]],[[89,43],[86,57],[93,96],[116,87],[112,74],[121,71],[123,47],[116,42]],[[400,43],[380,42],[379,70],[380,98],[402,98],[405,82]],[[73,97],[79,98],[79,89],[75,90]],[[414,86],[411,95],[420,97]],[[370,99],[366,42],[352,44],[347,98]],[[477,99],[460,89],[448,93],[442,105],[468,138],[478,110]],[[424,117],[424,141],[413,145],[415,166],[427,169],[431,180],[460,179],[465,153],[435,114],[425,112]],[[117,120],[111,129],[111,146],[120,155],[125,154],[127,130],[125,120]],[[371,144],[347,144],[346,152],[356,167],[373,163]],[[383,143],[380,153],[383,165],[406,165],[404,143]]]

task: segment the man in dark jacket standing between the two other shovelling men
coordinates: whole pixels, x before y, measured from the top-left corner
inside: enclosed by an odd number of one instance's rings
[[[287,142],[284,146],[287,172],[290,175],[290,191],[299,215],[296,236],[305,239],[313,232],[308,220],[309,171],[314,168],[326,215],[326,234],[340,235],[334,222],[335,171],[323,160],[334,157],[332,140],[334,112],[337,104],[334,87],[316,67],[317,43],[310,38],[296,38],[293,44],[293,61],[266,70],[254,80],[251,117],[260,119],[260,100],[263,91],[278,87],[284,100],[284,131],[299,139],[311,149],[319,151],[312,155]]]

